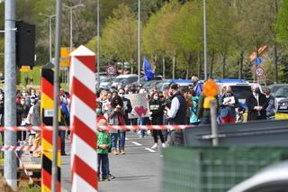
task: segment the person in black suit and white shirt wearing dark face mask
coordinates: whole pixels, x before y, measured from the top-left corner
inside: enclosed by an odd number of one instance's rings
[[[258,85],[252,86],[252,94],[247,96],[247,121],[265,120],[268,106],[266,96],[260,92]]]

